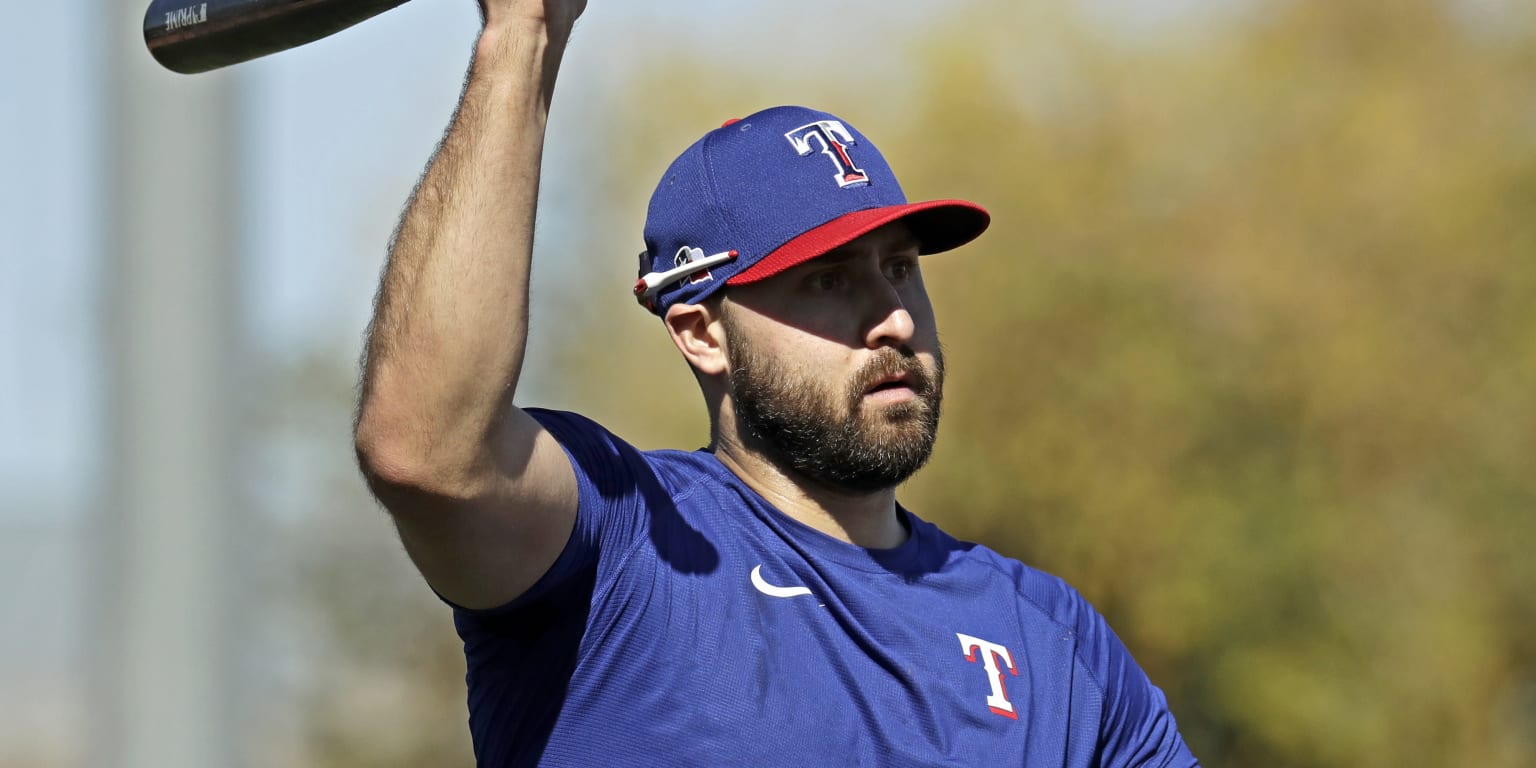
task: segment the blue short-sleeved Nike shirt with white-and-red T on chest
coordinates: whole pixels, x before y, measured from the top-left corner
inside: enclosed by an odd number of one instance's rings
[[[1060,579],[900,510],[866,550],[710,452],[530,410],[576,527],[550,571],[455,610],[481,766],[1187,766],[1154,687]]]

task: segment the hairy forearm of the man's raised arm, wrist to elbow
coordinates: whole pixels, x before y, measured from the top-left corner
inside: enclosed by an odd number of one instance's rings
[[[442,144],[390,247],[369,330],[359,450],[472,473],[505,421],[527,339],[544,127],[565,34],[482,32]]]

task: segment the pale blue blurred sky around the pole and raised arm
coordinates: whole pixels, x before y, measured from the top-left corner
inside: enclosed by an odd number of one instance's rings
[[[103,108],[108,0],[51,3],[48,23],[12,28],[0,46],[0,716],[48,728],[58,707],[25,691],[69,677],[78,627],[80,539],[104,458],[98,362],[108,137]],[[141,8],[146,0],[112,0]],[[1209,20],[1244,0],[1080,0],[1106,29]],[[541,207],[542,278],[608,286],[625,275],[588,275],[561,258],[581,241],[582,169],[602,158],[584,126],[611,114],[624,68],[657,48],[688,49],[699,68],[803,69],[796,51],[836,46],[843,35],[911,37],[945,5],[931,0],[840,2],[837,23],[783,3],[591,0],[561,75]],[[447,124],[478,15],[472,0],[416,0],[355,29],[227,72],[238,92],[238,255],[243,323],[253,355],[272,364],[303,355],[355,359],[384,247],[401,204]],[[147,52],[144,54],[147,57]],[[892,58],[849,68],[899,71]],[[833,74],[836,75],[836,74]],[[164,74],[166,78],[184,75]],[[204,75],[194,75],[204,77]],[[892,83],[900,92],[900,83]],[[768,106],[768,104],[760,104]],[[837,109],[828,104],[829,109]],[[684,115],[676,146],[656,147],[657,167],[713,123]],[[636,217],[636,221],[639,218]],[[614,232],[614,249],[639,250],[639,232]],[[610,261],[611,263],[611,261]],[[536,275],[536,280],[541,280]],[[617,286],[617,287],[613,287]],[[535,344],[539,341],[535,339]],[[536,350],[530,350],[535,353]],[[71,599],[74,596],[74,599]],[[28,680],[17,682],[17,671]],[[9,680],[9,682],[8,682]],[[66,680],[68,682],[68,680]],[[8,696],[5,691],[9,690]],[[63,700],[63,699],[60,699]],[[0,740],[5,739],[0,731]]]

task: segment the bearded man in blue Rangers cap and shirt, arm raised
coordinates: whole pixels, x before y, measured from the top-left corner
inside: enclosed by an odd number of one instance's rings
[[[919,255],[988,215],[906,203],[846,121],[728,123],[651,198],[634,293],[693,367],[708,449],[639,452],[513,404],[582,9],[482,2],[362,379],[359,461],[455,605],[479,763],[1193,765],[1075,591],[895,502],[943,389]]]

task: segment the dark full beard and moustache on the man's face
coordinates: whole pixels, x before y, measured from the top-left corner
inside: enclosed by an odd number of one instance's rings
[[[848,381],[829,382],[759,355],[730,321],[727,329],[736,421],[774,464],[834,488],[869,493],[900,485],[928,462],[938,436],[943,352],[928,370],[911,347],[885,347]],[[865,392],[894,373],[905,373],[917,396],[865,407]]]

